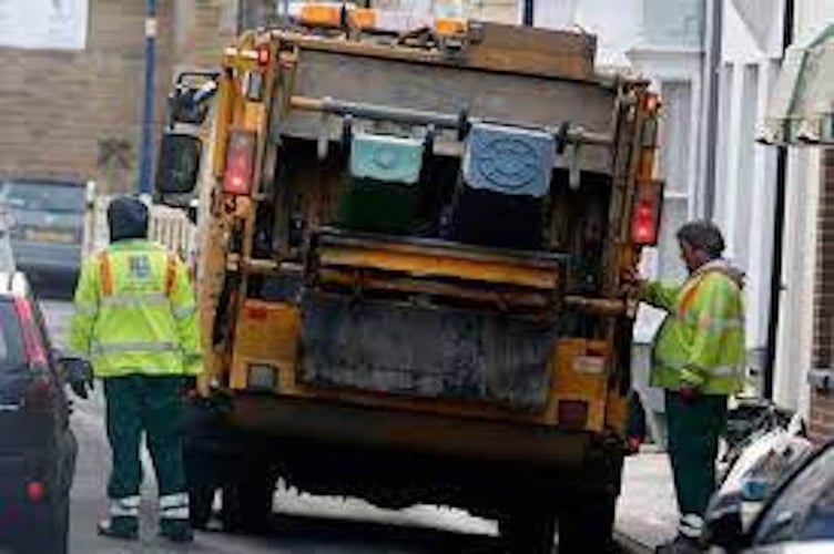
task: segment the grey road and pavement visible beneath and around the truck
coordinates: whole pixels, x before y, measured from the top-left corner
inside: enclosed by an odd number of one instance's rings
[[[43,301],[48,326],[60,346],[71,306]],[[380,510],[352,499],[334,499],[278,490],[277,515],[268,536],[244,537],[199,533],[194,545],[173,548],[155,535],[154,485],[150,460],[143,500],[143,532],[138,543],[100,538],[94,529],[104,510],[104,483],[110,466],[102,409],[98,394],[77,401],[72,417],[80,455],[72,490],[71,553],[490,553],[498,552],[495,522],[466,512],[436,506],[401,511]],[[627,552],[651,552],[674,534],[677,506],[668,459],[644,452],[626,462],[622,494],[618,504],[617,535]]]

